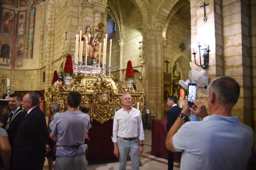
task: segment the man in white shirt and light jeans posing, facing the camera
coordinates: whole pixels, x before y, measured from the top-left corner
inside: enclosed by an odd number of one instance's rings
[[[122,95],[121,103],[123,108],[115,113],[113,122],[114,155],[119,157],[119,170],[125,170],[127,154],[130,151],[132,169],[139,170],[139,155],[144,151],[141,114],[131,106],[130,93]]]

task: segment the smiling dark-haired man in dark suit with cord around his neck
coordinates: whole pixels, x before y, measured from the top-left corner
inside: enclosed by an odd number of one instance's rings
[[[18,127],[26,115],[26,111],[23,110],[22,107],[20,107],[20,99],[20,95],[15,93],[11,94],[9,97],[9,106],[12,111],[8,118],[5,130],[8,133],[11,146],[13,144],[13,140],[18,130]]]

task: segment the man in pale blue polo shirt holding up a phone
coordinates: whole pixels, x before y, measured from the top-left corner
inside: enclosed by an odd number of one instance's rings
[[[251,127],[232,117],[240,94],[239,84],[231,77],[215,78],[208,90],[209,116],[201,101],[185,105],[166,138],[167,149],[181,152],[182,169],[246,169],[252,151]],[[197,107],[197,109],[196,109]],[[203,121],[187,122],[192,111]]]

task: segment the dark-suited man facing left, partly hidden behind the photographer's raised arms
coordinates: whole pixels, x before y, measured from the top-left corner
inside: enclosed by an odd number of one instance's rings
[[[167,132],[177,119],[178,114],[181,112],[181,108],[177,105],[177,98],[175,96],[169,96],[167,99],[167,106],[171,109],[167,111]],[[168,170],[173,170],[174,153],[168,150]]]

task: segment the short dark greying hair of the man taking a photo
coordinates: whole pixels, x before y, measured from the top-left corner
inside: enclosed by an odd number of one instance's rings
[[[240,86],[234,78],[220,76],[209,85],[208,93],[210,92],[215,93],[219,105],[235,105],[240,95]]]

